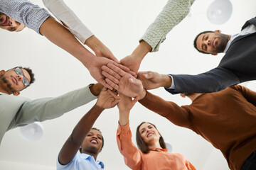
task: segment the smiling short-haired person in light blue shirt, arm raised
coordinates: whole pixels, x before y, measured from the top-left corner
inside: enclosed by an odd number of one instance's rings
[[[106,88],[102,89],[95,106],[81,118],[60,150],[57,170],[104,169],[104,164],[96,161],[104,140],[100,130],[92,128],[92,125],[105,108],[112,108],[118,102],[117,93]],[[81,154],[78,154],[79,148]]]

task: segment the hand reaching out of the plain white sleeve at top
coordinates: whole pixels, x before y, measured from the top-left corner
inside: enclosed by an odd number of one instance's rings
[[[116,57],[112,54],[110,49],[107,48],[99,39],[92,35],[85,41],[85,45],[90,47],[97,57],[106,57],[114,62],[120,63]]]

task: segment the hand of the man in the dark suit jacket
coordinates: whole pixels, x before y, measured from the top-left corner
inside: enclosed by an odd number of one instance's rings
[[[161,86],[170,87],[171,77],[157,72],[139,72],[138,79],[142,81],[145,89],[157,89]]]

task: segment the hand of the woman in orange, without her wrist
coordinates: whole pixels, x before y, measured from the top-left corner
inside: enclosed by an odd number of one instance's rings
[[[119,94],[119,98],[121,99],[117,104],[119,113],[129,113],[134,104],[139,100],[139,97],[136,97],[134,100],[132,100],[132,98],[124,96],[124,94]]]

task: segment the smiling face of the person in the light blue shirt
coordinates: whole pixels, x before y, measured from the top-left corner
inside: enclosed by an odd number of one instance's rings
[[[82,152],[99,153],[102,149],[102,135],[98,130],[90,130],[82,142]]]

